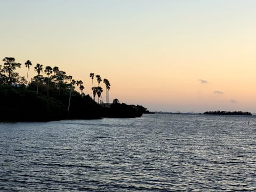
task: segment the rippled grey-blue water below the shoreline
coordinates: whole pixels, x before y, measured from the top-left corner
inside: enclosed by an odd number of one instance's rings
[[[0,191],[255,191],[255,140],[248,116],[0,123]]]

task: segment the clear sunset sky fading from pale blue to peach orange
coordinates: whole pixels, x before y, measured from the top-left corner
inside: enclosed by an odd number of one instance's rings
[[[109,80],[110,101],[151,111],[256,112],[256,1],[0,0],[0,6],[1,59],[58,66],[84,82],[85,94],[92,94],[94,73]],[[18,72],[26,76],[25,65]],[[29,78],[35,75],[31,68]]]

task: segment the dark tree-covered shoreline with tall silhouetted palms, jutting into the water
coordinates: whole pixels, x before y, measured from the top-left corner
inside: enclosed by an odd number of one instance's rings
[[[92,78],[92,97],[85,95],[83,82],[76,81],[59,67],[37,63],[34,66],[36,76],[28,81],[31,61],[26,61],[26,79],[16,69],[22,66],[14,58],[6,57],[0,65],[0,122],[16,121],[52,121],[59,119],[94,119],[101,117],[139,117],[146,110],[142,106],[130,106],[125,103],[109,103],[110,83],[106,85],[106,103],[103,102],[101,77],[96,75],[98,86]],[[77,87],[77,91],[76,91]],[[97,101],[95,98],[97,97]]]

